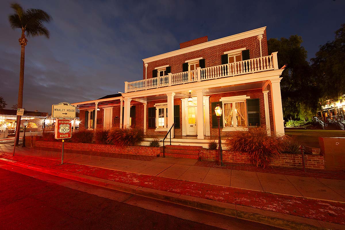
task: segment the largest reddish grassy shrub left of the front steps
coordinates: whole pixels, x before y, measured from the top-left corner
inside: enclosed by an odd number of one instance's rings
[[[144,134],[138,129],[111,128],[108,133],[107,142],[117,146],[135,146],[144,140]]]

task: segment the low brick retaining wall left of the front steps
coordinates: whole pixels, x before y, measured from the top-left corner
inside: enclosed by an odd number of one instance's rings
[[[61,142],[37,141],[36,146],[61,149]],[[157,156],[157,154],[160,154],[161,152],[163,152],[163,147],[148,147],[148,146],[118,147],[118,146],[114,146],[110,144],[88,144],[88,143],[71,143],[71,142],[65,142],[64,149],[110,152],[110,153],[121,153],[121,154],[137,154],[137,155],[147,155],[147,156]]]

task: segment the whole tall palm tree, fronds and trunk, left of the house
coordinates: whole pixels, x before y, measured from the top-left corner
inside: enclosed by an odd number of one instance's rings
[[[21,46],[20,53],[20,72],[19,72],[19,91],[18,91],[18,108],[23,106],[23,85],[24,85],[24,60],[25,60],[25,46],[28,39],[25,37],[25,33],[28,37],[35,37],[44,35],[49,38],[49,31],[43,25],[44,22],[49,22],[51,17],[48,13],[39,9],[23,8],[17,4],[12,3],[11,8],[14,10],[14,14],[9,16],[9,21],[12,29],[21,29],[21,37],[19,38],[19,44]],[[19,142],[19,127],[21,116],[17,116],[17,128],[16,128],[16,142],[14,142],[14,148]],[[14,150],[13,150],[14,154]]]

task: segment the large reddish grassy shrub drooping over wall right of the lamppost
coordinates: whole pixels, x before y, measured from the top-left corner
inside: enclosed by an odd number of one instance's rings
[[[250,162],[258,167],[268,167],[274,157],[284,150],[282,137],[268,136],[264,129],[231,132],[226,145],[233,152],[246,152]]]

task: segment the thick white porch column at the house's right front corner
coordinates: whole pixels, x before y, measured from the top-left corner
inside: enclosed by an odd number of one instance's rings
[[[281,78],[271,80],[271,96],[272,96],[272,108],[273,108],[273,121],[274,121],[274,134],[277,136],[283,136],[284,121],[283,121],[283,107],[282,96],[280,94],[280,80]]]

